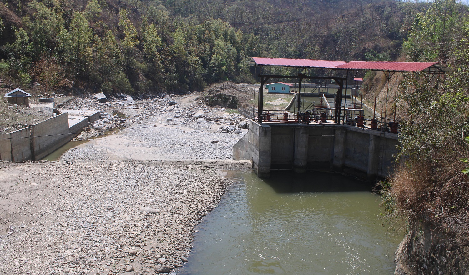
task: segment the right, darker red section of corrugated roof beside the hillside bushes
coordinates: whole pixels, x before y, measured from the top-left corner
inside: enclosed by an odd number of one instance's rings
[[[438,64],[438,62],[395,62],[395,61],[350,61],[336,66],[340,69],[379,70],[379,71],[408,71],[420,72]]]

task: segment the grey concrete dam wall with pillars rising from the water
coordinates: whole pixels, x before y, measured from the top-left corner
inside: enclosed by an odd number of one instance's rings
[[[398,135],[337,124],[259,124],[233,146],[233,159],[250,160],[260,178],[271,170],[332,169],[368,180],[393,171]]]

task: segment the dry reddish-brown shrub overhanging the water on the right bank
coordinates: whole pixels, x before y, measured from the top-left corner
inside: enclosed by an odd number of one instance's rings
[[[439,161],[408,160],[389,179],[389,195],[409,221],[425,219],[469,244],[469,182],[459,160],[439,155]],[[435,156],[434,156],[435,157]],[[433,158],[435,159],[435,158]]]

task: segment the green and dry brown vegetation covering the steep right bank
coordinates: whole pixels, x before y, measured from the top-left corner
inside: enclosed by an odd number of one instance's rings
[[[405,165],[399,166],[390,179],[387,193],[393,209],[408,218],[409,230],[418,232],[422,221],[431,222],[439,232],[448,234],[446,244],[466,247],[469,245],[467,15],[467,7],[450,0],[435,0],[417,16],[404,42],[402,52],[408,61],[440,61],[450,71],[434,77],[401,75],[394,100],[398,111],[404,114],[399,157]],[[419,266],[421,263],[415,264]],[[417,271],[420,272],[424,271]]]

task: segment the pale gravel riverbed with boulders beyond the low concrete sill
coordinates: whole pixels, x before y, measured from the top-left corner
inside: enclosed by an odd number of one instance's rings
[[[233,145],[248,131],[248,120],[233,113],[234,110],[230,110],[230,114],[228,109],[206,106],[196,98],[175,96],[137,101],[127,106],[131,108],[121,110],[129,115],[128,129],[90,140],[68,150],[60,159],[231,159]],[[105,132],[93,129],[78,135],[77,139],[86,139],[95,133]]]

